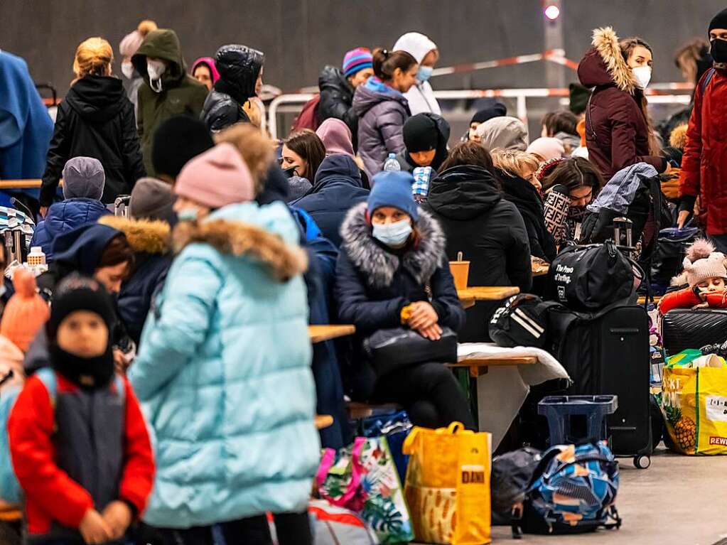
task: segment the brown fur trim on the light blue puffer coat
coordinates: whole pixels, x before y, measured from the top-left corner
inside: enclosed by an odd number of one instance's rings
[[[250,257],[268,267],[276,280],[286,282],[308,268],[308,254],[289,246],[278,235],[230,219],[206,222],[180,222],[172,235],[177,254],[188,244],[206,243],[220,252],[236,257]]]

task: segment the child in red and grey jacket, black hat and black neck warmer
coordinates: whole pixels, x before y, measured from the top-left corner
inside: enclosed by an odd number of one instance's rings
[[[153,455],[134,392],[114,373],[114,321],[103,286],[65,278],[46,326],[52,369],[25,382],[10,413],[33,544],[118,543],[145,508]]]

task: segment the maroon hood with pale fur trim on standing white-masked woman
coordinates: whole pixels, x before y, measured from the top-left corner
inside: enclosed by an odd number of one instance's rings
[[[619,37],[610,26],[593,31],[592,46],[578,65],[578,78],[586,87],[615,85],[634,94],[633,73],[624,60]]]

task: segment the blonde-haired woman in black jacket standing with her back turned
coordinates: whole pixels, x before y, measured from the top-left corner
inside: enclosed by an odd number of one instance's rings
[[[145,176],[134,106],[119,78],[111,75],[113,51],[103,38],[89,38],[76,49],[76,78],[58,106],[55,131],[41,185],[41,215],[53,203],[63,166],[73,157],[98,159],[106,182],[101,202],[128,195]]]

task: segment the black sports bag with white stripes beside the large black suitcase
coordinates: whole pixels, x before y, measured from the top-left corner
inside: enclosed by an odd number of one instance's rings
[[[513,295],[490,320],[490,338],[499,347],[545,346],[547,315],[558,302],[544,302],[537,295]]]

